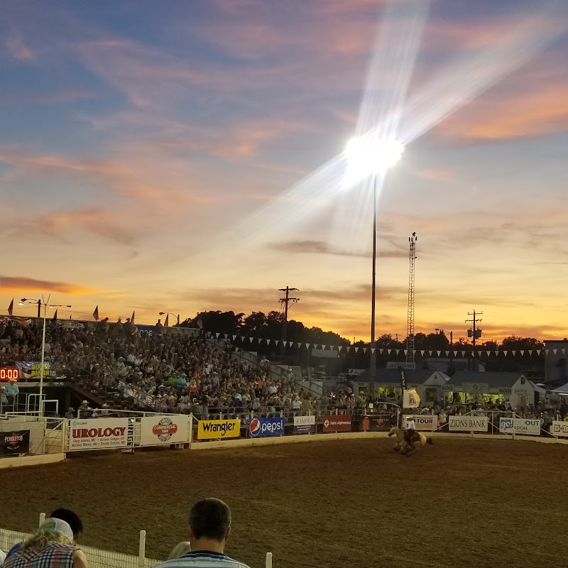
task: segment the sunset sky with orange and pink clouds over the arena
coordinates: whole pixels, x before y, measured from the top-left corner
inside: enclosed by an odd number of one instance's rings
[[[0,13],[0,312],[280,310],[370,336],[568,334],[568,4],[46,3]],[[346,183],[353,136],[403,143]],[[53,312],[48,312],[48,315]],[[171,317],[170,317],[171,322]]]

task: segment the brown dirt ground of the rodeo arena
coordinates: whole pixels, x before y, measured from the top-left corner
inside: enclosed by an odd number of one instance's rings
[[[202,452],[74,454],[3,470],[0,526],[31,531],[40,512],[82,515],[81,542],[165,558],[206,496],[233,510],[226,552],[253,568],[537,567],[564,557],[568,447],[438,438],[413,457],[389,439]]]

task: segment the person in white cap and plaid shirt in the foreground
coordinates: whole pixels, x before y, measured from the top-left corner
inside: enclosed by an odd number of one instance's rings
[[[88,568],[87,558],[74,541],[69,523],[47,518],[37,532],[6,555],[4,568]]]

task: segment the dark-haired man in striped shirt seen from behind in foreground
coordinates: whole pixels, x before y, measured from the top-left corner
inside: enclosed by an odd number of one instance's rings
[[[191,552],[154,568],[249,568],[224,554],[231,535],[231,510],[219,499],[198,501],[190,510]]]

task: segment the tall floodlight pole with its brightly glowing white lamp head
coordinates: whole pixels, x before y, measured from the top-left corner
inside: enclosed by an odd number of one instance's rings
[[[377,180],[386,170],[400,160],[404,146],[395,140],[376,135],[351,138],[346,148],[347,170],[345,182],[355,185],[373,176],[373,268],[371,277],[371,400],[375,398],[376,342],[375,342],[375,292],[377,257]]]

